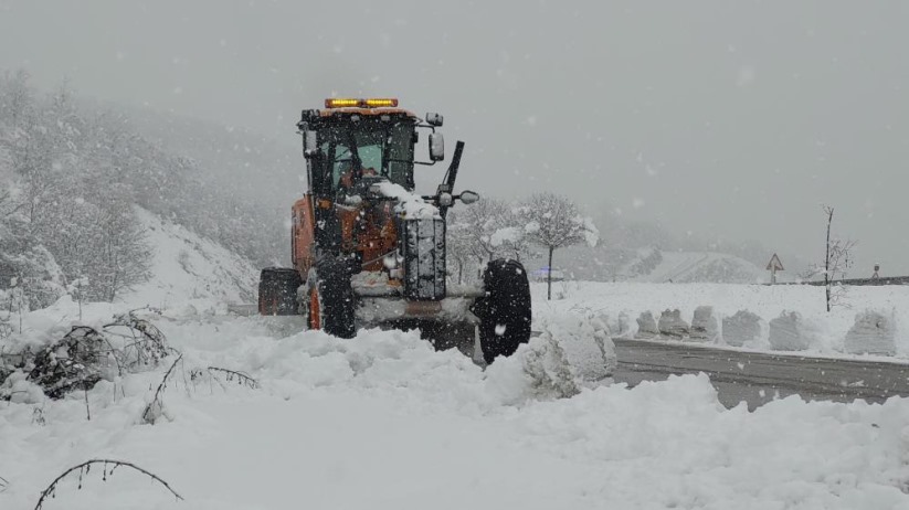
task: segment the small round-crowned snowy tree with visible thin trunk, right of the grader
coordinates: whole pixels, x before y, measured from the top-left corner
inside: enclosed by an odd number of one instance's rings
[[[574,202],[552,192],[530,196],[518,212],[526,221],[528,238],[549,253],[547,299],[552,299],[552,254],[584,241],[595,245],[599,233],[590,219],[581,216]]]

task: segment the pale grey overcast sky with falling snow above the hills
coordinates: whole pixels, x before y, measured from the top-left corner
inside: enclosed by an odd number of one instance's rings
[[[813,259],[829,203],[854,274],[909,274],[909,2],[489,3],[0,0],[0,67],[288,150],[302,108],[394,96],[463,187]]]

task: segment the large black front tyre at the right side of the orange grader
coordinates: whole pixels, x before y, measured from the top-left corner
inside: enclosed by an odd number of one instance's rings
[[[486,297],[474,305],[474,315],[480,319],[483,358],[492,363],[530,340],[530,284],[519,262],[498,259],[486,266],[483,286]]]

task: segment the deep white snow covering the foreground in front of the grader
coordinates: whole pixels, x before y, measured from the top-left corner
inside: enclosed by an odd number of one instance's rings
[[[294,320],[189,308],[158,318],[183,361],[156,425],[139,416],[163,365],[99,383],[87,393],[91,421],[81,392],[0,404],[0,508],[33,508],[65,468],[97,457],[134,461],[186,501],[128,470],[107,481],[93,470],[82,490],[76,476],[62,482],[45,508],[909,504],[907,400],[790,397],[748,413],[720,405],[702,375],[553,399],[518,363],[483,371],[412,332],[338,340],[294,332]],[[261,389],[191,378],[205,366],[244,371]]]

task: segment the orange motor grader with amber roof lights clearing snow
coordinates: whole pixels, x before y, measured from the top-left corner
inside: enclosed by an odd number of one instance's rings
[[[425,119],[397,99],[326,99],[303,110],[308,190],[292,210],[290,268],[262,270],[262,315],[302,315],[310,329],[351,338],[366,327],[419,329],[436,349],[473,352],[492,363],[530,337],[530,290],[517,261],[487,264],[482,281],[456,286],[446,270],[446,216],[464,142],[434,194],[414,191],[414,168],[445,159],[438,114]],[[414,157],[427,135],[429,161]]]

